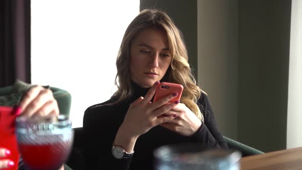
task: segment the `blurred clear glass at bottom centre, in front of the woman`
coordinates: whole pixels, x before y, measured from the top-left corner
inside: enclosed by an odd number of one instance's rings
[[[154,152],[156,170],[239,170],[239,151],[203,150],[200,144],[172,144]]]

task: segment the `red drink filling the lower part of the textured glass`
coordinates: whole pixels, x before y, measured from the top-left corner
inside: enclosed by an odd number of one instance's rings
[[[70,144],[67,142],[33,145],[19,143],[24,163],[33,170],[57,170],[68,158]]]

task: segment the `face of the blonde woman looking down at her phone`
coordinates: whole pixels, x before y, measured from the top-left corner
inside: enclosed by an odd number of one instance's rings
[[[171,54],[166,33],[160,29],[145,29],[133,40],[130,49],[131,79],[142,88],[151,87],[165,75]]]

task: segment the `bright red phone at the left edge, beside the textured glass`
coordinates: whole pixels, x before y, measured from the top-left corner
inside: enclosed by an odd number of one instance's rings
[[[19,161],[14,127],[16,115],[12,111],[13,108],[11,107],[0,107],[0,147],[11,152],[10,156],[0,158],[0,160],[10,159],[15,164],[13,167],[6,168],[6,170],[17,170]]]

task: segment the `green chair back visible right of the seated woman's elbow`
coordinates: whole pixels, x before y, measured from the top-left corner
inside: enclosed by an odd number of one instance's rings
[[[264,154],[264,152],[262,152],[262,151],[256,150],[253,147],[250,147],[248,145],[245,145],[243,143],[240,143],[240,142],[230,139],[228,137],[224,136],[223,138],[227,142],[229,148],[240,151],[242,153],[242,157]]]

